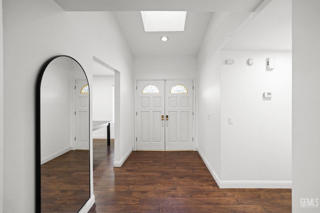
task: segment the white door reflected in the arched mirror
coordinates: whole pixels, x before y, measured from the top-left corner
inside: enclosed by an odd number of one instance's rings
[[[75,80],[75,149],[89,149],[89,93],[86,80]],[[88,87],[87,87],[88,88]],[[81,92],[82,91],[82,92]]]

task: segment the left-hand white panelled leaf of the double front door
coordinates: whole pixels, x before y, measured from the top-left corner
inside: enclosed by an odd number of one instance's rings
[[[137,150],[164,150],[164,81],[136,85]]]

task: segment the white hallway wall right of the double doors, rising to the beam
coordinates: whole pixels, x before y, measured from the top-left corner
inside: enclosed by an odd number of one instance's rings
[[[220,49],[249,17],[250,13],[213,13],[198,54],[198,152],[217,183],[221,177]]]

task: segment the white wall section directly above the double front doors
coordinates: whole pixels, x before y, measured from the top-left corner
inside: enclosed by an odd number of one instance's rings
[[[135,78],[194,78],[196,56],[134,56]]]

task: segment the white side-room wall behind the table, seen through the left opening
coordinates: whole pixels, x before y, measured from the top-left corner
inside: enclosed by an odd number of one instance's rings
[[[112,121],[113,75],[93,75],[92,119],[94,121]],[[106,128],[93,132],[93,138],[107,138]],[[114,124],[110,123],[110,138],[114,138]]]

